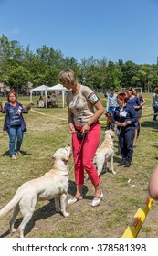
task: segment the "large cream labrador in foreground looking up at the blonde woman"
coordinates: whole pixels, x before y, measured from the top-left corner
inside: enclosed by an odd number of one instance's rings
[[[55,198],[56,211],[61,212],[64,217],[68,217],[66,212],[66,197],[68,192],[68,160],[71,155],[70,145],[59,148],[52,158],[55,163],[52,169],[44,176],[24,183],[16,190],[13,199],[0,210],[0,217],[7,214],[14,208],[12,219],[10,220],[10,231],[16,232],[14,223],[16,216],[21,211],[23,221],[18,227],[20,238],[24,237],[24,229],[28,221],[32,218],[37,205],[37,200],[50,200]]]

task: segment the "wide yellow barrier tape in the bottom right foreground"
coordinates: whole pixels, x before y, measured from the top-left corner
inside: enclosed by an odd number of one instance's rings
[[[132,219],[132,223],[128,226],[125,232],[122,235],[122,238],[136,238],[141,227],[142,223],[145,220],[150,208],[153,204],[153,198],[148,197],[142,206],[138,208],[137,212]]]

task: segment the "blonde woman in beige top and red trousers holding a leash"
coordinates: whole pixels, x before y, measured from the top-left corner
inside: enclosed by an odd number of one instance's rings
[[[75,73],[68,69],[59,73],[59,81],[68,90],[68,124],[72,134],[72,151],[75,162],[76,195],[68,200],[74,204],[83,198],[84,169],[95,188],[91,206],[100,205],[103,193],[93,158],[100,144],[99,118],[104,112],[100,99],[89,87],[79,84]],[[95,109],[95,111],[94,111]]]

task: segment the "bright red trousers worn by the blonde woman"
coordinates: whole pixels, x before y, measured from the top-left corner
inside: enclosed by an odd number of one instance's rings
[[[81,130],[80,127],[76,129]],[[100,144],[100,123],[94,123],[90,126],[89,133],[86,134],[84,141],[77,138],[77,134],[72,134],[72,150],[75,163],[75,182],[76,185],[84,184],[84,169],[90,176],[91,183],[94,186],[99,185],[100,179],[93,158]]]

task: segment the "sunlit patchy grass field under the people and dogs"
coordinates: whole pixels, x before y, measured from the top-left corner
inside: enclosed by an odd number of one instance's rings
[[[33,218],[26,226],[26,237],[119,238],[122,236],[135,212],[148,197],[148,180],[158,162],[158,123],[152,123],[152,95],[145,93],[143,96],[146,104],[142,109],[142,129],[134,148],[132,166],[126,169],[118,167],[121,155],[115,154],[116,176],[111,173],[100,176],[104,193],[100,207],[90,207],[94,188],[89,181],[84,185],[84,200],[67,206],[70,216],[66,219],[55,212],[53,200],[38,202]],[[37,98],[34,97],[33,100],[37,101]],[[105,106],[103,94],[100,94],[100,99]],[[5,103],[5,98],[1,98],[1,101]],[[19,97],[18,101],[26,105],[29,97]],[[47,172],[53,163],[51,155],[59,147],[70,143],[68,111],[67,108],[62,109],[60,98],[58,103],[57,109],[34,107],[29,114],[24,115],[27,126],[22,145],[24,156],[19,156],[16,161],[11,160],[8,155],[8,136],[2,131],[4,114],[0,114],[0,208],[14,196],[17,187]],[[102,134],[105,128],[104,121],[104,116],[101,116]],[[115,138],[116,153],[117,145]],[[68,198],[75,193],[72,157],[69,165]],[[128,183],[129,179],[131,179],[130,183]],[[0,219],[2,237],[11,237],[8,232],[10,216],[11,213]],[[154,201],[138,237],[157,237],[157,220],[158,206]],[[20,221],[19,215],[16,225]]]

